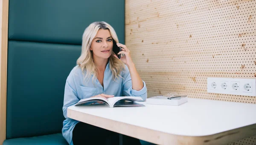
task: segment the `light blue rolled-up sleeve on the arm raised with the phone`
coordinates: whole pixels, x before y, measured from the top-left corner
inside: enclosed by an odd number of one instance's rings
[[[127,72],[128,71],[128,72]],[[126,76],[123,79],[123,86],[122,86],[122,95],[123,96],[136,96],[141,97],[143,100],[147,98],[147,87],[145,82],[143,81],[143,88],[139,91],[132,89],[131,83],[131,75],[129,70],[127,70]]]

